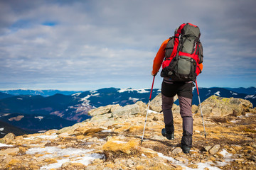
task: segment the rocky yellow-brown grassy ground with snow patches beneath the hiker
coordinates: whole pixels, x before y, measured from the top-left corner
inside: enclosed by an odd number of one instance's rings
[[[137,106],[139,111],[132,106],[122,114],[117,110],[125,107],[99,108],[102,114],[92,120],[43,134],[6,135],[0,139],[0,169],[255,169],[255,109],[205,116],[205,138],[201,114],[193,106],[193,148],[184,154],[176,107],[175,139],[161,136],[163,115],[150,111],[141,143],[146,106]]]

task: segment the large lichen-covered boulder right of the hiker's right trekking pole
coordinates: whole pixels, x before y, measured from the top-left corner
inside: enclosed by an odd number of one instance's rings
[[[203,115],[206,116],[225,116],[225,115],[245,115],[252,110],[252,103],[242,98],[223,98],[210,96],[201,103]],[[200,113],[200,108],[195,111]]]

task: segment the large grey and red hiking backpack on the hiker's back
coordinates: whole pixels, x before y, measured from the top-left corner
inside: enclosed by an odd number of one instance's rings
[[[175,30],[165,48],[161,77],[174,81],[196,81],[201,73],[198,64],[203,62],[200,35],[198,26],[191,23],[183,23]]]

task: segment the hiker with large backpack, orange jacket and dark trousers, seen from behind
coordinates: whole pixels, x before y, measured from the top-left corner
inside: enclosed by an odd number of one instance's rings
[[[199,38],[200,30],[197,26],[183,23],[175,30],[174,37],[161,44],[154,58],[151,72],[151,75],[156,76],[160,67],[163,67],[161,77],[164,79],[161,84],[161,96],[165,128],[162,130],[162,135],[166,136],[168,140],[174,140],[174,118],[171,108],[174,104],[174,96],[178,95],[181,118],[183,119],[181,148],[184,153],[189,153],[192,147],[191,106],[192,89],[195,86],[193,81],[196,81],[196,76],[203,69],[203,47]],[[188,48],[191,48],[191,51]]]

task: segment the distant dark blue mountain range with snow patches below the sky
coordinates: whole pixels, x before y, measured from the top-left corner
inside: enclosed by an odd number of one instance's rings
[[[151,89],[118,89],[105,88],[96,91],[58,91],[58,90],[11,90],[0,92],[0,124],[1,128],[7,125],[19,128],[19,132],[38,132],[41,130],[60,129],[90,116],[92,108],[119,104],[126,106],[137,101],[147,103]],[[161,92],[152,91],[154,98]],[[256,88],[199,88],[201,102],[215,94],[221,97],[244,98],[256,106]],[[38,95],[41,94],[41,95]],[[176,101],[178,104],[178,101]],[[193,89],[193,104],[198,105],[196,88]],[[3,126],[3,127],[1,127]],[[0,134],[4,135],[6,131]],[[22,131],[23,130],[23,131]],[[18,130],[16,130],[18,132]]]

